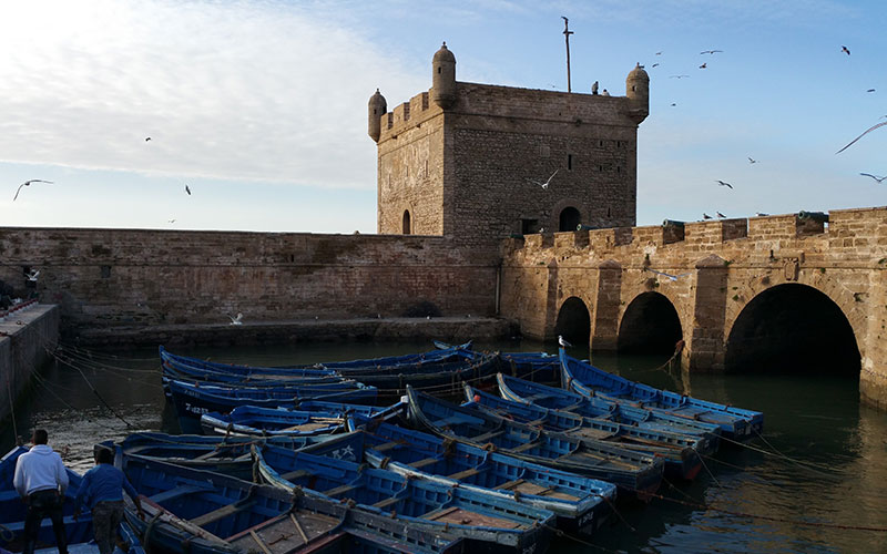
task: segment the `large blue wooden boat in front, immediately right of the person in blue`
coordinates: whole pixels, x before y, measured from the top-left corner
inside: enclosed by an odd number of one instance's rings
[[[293,494],[137,454],[121,453],[118,462],[133,486],[146,496],[142,499],[144,520],[132,505],[128,505],[125,516],[152,551],[332,553],[339,547],[361,552],[360,546],[369,544],[379,552],[461,552],[459,541],[446,533],[428,533],[316,495]],[[341,543],[355,535],[363,544]]]

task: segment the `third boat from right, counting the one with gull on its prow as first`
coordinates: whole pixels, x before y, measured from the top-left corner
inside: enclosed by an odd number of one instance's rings
[[[702,470],[701,454],[712,454],[707,439],[690,439],[685,435],[650,431],[623,423],[584,418],[573,412],[551,410],[536,404],[512,402],[480,389],[465,386],[466,402],[488,413],[541,427],[549,431],[560,431],[579,439],[602,441],[609,444],[642,452],[665,462],[665,474],[692,480]]]

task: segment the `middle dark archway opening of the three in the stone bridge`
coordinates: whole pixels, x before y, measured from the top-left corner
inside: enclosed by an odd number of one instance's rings
[[[630,353],[673,353],[682,338],[681,318],[672,302],[659,293],[644,293],[625,309],[616,348]]]

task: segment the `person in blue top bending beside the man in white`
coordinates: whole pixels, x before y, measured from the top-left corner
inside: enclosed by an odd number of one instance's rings
[[[123,491],[135,502],[139,517],[144,519],[142,502],[135,488],[118,468],[114,453],[105,448],[95,452],[95,466],[83,475],[74,499],[74,517],[80,516],[80,506],[86,503],[92,512],[92,531],[100,554],[114,552],[118,527],[123,521]]]

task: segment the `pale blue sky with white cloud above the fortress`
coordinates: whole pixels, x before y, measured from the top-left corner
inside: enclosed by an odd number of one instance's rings
[[[29,0],[0,226],[375,233],[376,89],[427,91],[446,41],[457,81],[565,92],[562,16],[574,92],[650,74],[639,225],[887,205],[887,125],[836,154],[887,121],[883,0]]]

